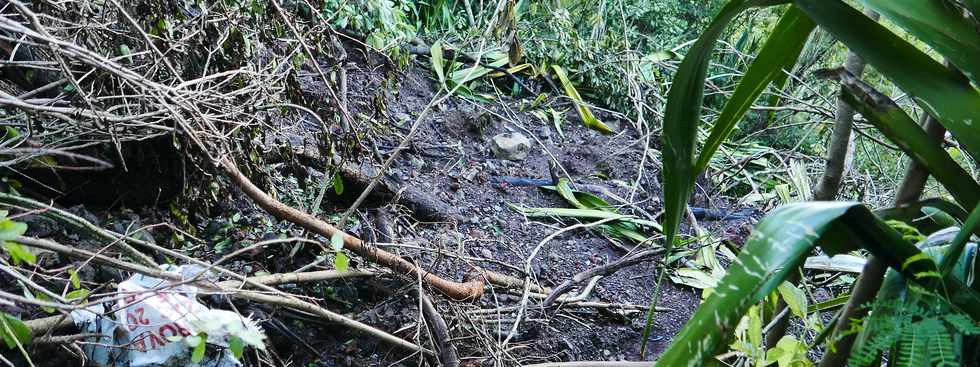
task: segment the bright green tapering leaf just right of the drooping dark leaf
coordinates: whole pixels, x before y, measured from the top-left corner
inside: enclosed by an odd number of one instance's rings
[[[813,21],[795,6],[790,6],[783,13],[779,23],[766,40],[765,46],[762,47],[762,51],[749,66],[745,76],[735,87],[732,97],[725,103],[721,115],[715,120],[711,135],[701,148],[694,168],[695,176],[708,167],[718,147],[728,139],[735,130],[735,125],[742,116],[745,116],[745,112],[762,95],[770,82],[781,82],[786,79],[786,72],[793,69],[814,26]]]

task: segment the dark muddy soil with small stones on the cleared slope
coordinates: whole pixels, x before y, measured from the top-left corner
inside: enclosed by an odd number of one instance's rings
[[[348,163],[380,166],[408,132],[415,117],[436,95],[437,85],[421,64],[400,72],[383,68],[355,68],[348,72],[349,107],[358,116],[356,130],[363,132],[358,145],[346,158]],[[310,98],[317,97],[316,80],[304,81]],[[526,207],[568,207],[556,193],[534,186],[501,183],[500,177],[549,179],[549,162],[558,163],[557,172],[567,175],[580,187],[605,187],[616,196],[630,198],[632,206],[625,213],[656,217],[661,210],[660,175],[655,161],[643,159],[645,139],[628,120],[610,113],[599,117],[617,133],[602,135],[583,126],[567,102],[549,99],[546,104],[567,110],[563,135],[554,126],[542,122],[527,107],[533,95],[523,98],[501,97],[490,103],[453,97],[436,106],[422,121],[410,148],[402,152],[387,172],[396,190],[416,190],[430,194],[445,208],[443,215],[422,219],[404,205],[391,200],[373,200],[363,206],[348,230],[361,238],[375,239],[391,251],[414,259],[420,266],[447,278],[462,280],[473,267],[497,270],[523,277],[524,264],[531,250],[551,233],[575,222],[561,218],[526,218],[508,204]],[[317,141],[322,130],[309,117],[286,118],[279,132],[266,144],[288,144],[295,151],[319,151]],[[334,131],[336,133],[336,131]],[[528,136],[532,148],[523,161],[495,159],[490,151],[491,137],[503,132]],[[657,136],[651,139],[656,141]],[[268,148],[268,147],[267,147]],[[340,157],[344,160],[343,157]],[[273,192],[280,200],[309,211],[320,190],[322,167],[296,163],[293,157],[271,164],[265,172],[253,173],[253,180]],[[641,167],[641,162],[644,165]],[[635,190],[629,187],[637,183]],[[261,176],[264,179],[256,179]],[[215,178],[222,182],[220,178]],[[328,192],[332,192],[330,188]],[[327,195],[321,217],[336,220],[349,203],[355,185],[348,184],[347,195]],[[403,192],[405,192],[403,191]],[[596,192],[607,197],[606,193]],[[347,200],[345,200],[345,197]],[[169,223],[177,228],[192,228],[194,235],[178,235],[165,225],[145,229],[146,236],[158,244],[184,248],[200,258],[217,259],[240,248],[276,236],[306,235],[303,231],[277,221],[255,207],[243,194],[230,190],[227,197],[217,198],[218,205],[207,211],[191,211],[188,218],[180,210],[166,205],[112,208],[109,210],[74,206],[72,210],[100,225],[124,231],[142,225]],[[700,202],[713,202],[699,198]],[[379,220],[380,218],[380,220]],[[744,239],[753,220],[703,222],[709,231],[736,243]],[[378,228],[378,223],[382,223]],[[387,223],[387,224],[385,224]],[[70,230],[30,223],[29,234],[59,238],[79,246],[98,246]],[[651,233],[652,234],[652,233]],[[187,237],[196,237],[191,240]],[[183,239],[184,242],[179,242]],[[328,242],[326,239],[319,240]],[[197,244],[197,245],[189,245]],[[532,279],[545,287],[555,286],[577,272],[605,264],[637,251],[628,240],[609,238],[601,232],[576,230],[560,235],[547,244],[531,262]],[[316,260],[318,250],[311,246],[293,250],[292,246],[270,248],[243,255],[229,264],[245,274],[288,272]],[[602,278],[589,300],[643,309],[651,296],[658,274],[654,262],[624,268]],[[52,259],[54,263],[67,262]],[[353,268],[378,269],[363,259],[354,258]],[[329,269],[329,262],[319,268]],[[90,284],[106,279],[121,279],[122,274],[99,267],[82,274]],[[380,270],[380,269],[379,269]],[[406,339],[430,345],[424,327],[420,327],[418,285],[393,275],[355,278],[323,284],[285,286],[291,292],[319,300],[325,307],[386,330]],[[579,287],[578,289],[581,289]],[[600,308],[567,308],[542,310],[532,300],[525,320],[507,344],[516,314],[508,307],[520,304],[520,291],[493,289],[478,303],[451,302],[434,295],[436,306],[446,318],[454,344],[465,365],[520,365],[546,361],[636,360],[640,350],[643,312]],[[352,333],[335,325],[292,311],[264,305],[246,304],[213,296],[207,299],[215,307],[232,304],[243,313],[264,320],[273,364],[294,366],[369,366],[418,365],[416,356],[406,355],[375,339]],[[660,306],[670,309],[659,313],[653,324],[649,350],[644,358],[655,359],[670,342],[700,300],[700,291],[667,282]],[[40,315],[38,310],[27,310]],[[42,350],[50,350],[43,349]],[[54,348],[68,356],[68,349]],[[40,352],[40,350],[38,351]],[[39,354],[35,354],[39,355]],[[257,362],[254,356],[251,362]],[[64,359],[52,359],[61,365]],[[45,362],[37,361],[35,362]],[[268,361],[267,361],[268,362]],[[69,362],[76,363],[76,362]],[[45,363],[41,363],[45,364]]]

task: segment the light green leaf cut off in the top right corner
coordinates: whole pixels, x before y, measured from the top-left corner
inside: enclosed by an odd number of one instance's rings
[[[980,83],[980,37],[976,24],[939,0],[862,0],[888,20],[925,42],[974,82]]]

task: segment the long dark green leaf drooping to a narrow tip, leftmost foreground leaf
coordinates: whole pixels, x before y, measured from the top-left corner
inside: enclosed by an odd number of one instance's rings
[[[708,63],[714,51],[715,43],[721,37],[728,23],[743,11],[758,6],[783,4],[787,1],[777,0],[734,0],[729,1],[719,11],[718,15],[708,24],[708,28],[688,50],[674,75],[667,94],[667,104],[663,121],[663,177],[664,177],[664,219],[663,233],[666,236],[665,247],[670,256],[674,241],[687,200],[691,197],[694,187],[695,148],[697,145],[698,124],[701,122],[701,105],[704,102],[704,82],[708,72]],[[661,272],[665,274],[666,272]],[[650,336],[653,323],[654,308],[659,301],[660,283],[663,275],[658,277],[653,289],[650,308],[647,310],[646,325],[641,337],[641,351],[646,350],[646,341]]]

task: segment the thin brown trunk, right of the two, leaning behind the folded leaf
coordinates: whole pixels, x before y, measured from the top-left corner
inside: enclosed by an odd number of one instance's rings
[[[926,130],[926,134],[932,139],[935,139],[936,144],[941,143],[946,129],[932,116],[926,113],[923,113],[922,116],[920,123]],[[922,196],[922,191],[925,189],[926,180],[928,179],[929,171],[926,170],[925,166],[914,160],[909,163],[905,178],[902,180],[902,185],[899,187],[898,194],[895,196],[895,205],[909,204],[918,200]],[[886,270],[888,270],[888,266],[877,257],[872,256],[868,259],[868,263],[864,265],[864,270],[861,271],[861,276],[854,283],[851,298],[848,299],[847,305],[844,306],[844,311],[841,313],[840,318],[837,319],[834,336],[843,335],[846,331],[850,330],[851,320],[862,319],[868,314],[868,310],[862,307],[862,305],[874,300],[875,295],[878,294],[878,289],[881,288],[881,282],[885,277]],[[830,342],[835,343],[835,348],[828,348],[827,354],[820,360],[820,367],[843,366],[847,362],[847,357],[851,355],[851,347],[854,346],[854,339],[857,335],[846,335],[836,341],[834,340],[834,336],[831,337]]]

